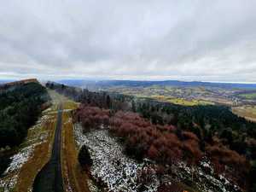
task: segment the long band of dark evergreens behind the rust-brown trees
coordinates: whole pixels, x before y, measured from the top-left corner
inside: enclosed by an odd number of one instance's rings
[[[256,124],[238,117],[228,107],[186,107],[104,91],[91,92],[64,84],[48,83],[47,86],[77,102],[109,108],[115,112],[122,110],[141,113],[153,124],[175,125],[177,129],[192,131],[200,140],[201,150],[205,150],[206,143],[213,143],[213,138],[218,137],[221,143],[245,155],[248,160],[256,159]]]

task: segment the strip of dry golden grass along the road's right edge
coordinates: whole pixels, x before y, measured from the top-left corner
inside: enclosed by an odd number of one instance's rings
[[[70,104],[70,103],[69,103]],[[65,103],[64,103],[65,105]],[[61,165],[64,187],[66,191],[72,189],[75,192],[89,192],[87,174],[79,166],[78,150],[73,137],[73,122],[71,112],[65,112],[62,116],[62,150]]]

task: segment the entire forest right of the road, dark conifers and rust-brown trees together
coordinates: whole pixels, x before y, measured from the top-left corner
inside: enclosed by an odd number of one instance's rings
[[[88,127],[110,125],[123,138],[126,153],[160,164],[186,160],[193,166],[207,156],[241,188],[255,191],[256,126],[225,106],[185,107],[63,84],[47,86],[83,105],[76,120]]]

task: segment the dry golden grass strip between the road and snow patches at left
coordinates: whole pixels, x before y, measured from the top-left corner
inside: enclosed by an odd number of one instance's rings
[[[26,161],[26,163],[21,167],[18,181],[15,187],[15,191],[24,192],[32,189],[32,184],[37,176],[38,172],[44,167],[44,165],[49,161],[52,145],[54,142],[56,117],[57,117],[57,103],[58,98],[55,96],[54,92],[49,92],[53,100],[53,105],[49,111],[44,112],[44,115],[49,116],[49,119],[44,119],[40,127],[36,129],[30,129],[27,134],[26,141],[22,145],[31,145],[32,141],[40,132],[47,131],[48,137],[45,139],[44,143],[38,144],[33,151],[32,157]],[[22,146],[21,145],[21,146]]]

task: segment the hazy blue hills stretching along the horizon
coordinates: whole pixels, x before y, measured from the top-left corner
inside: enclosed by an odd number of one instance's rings
[[[94,87],[94,88],[106,88],[109,86],[152,86],[152,85],[161,85],[161,86],[177,86],[177,87],[219,87],[224,89],[255,89],[256,84],[235,84],[235,83],[209,83],[209,82],[200,82],[200,81],[177,81],[177,80],[165,80],[165,81],[136,81],[136,80],[101,80],[101,81],[92,81],[92,80],[83,80],[83,79],[66,79],[59,81],[61,84],[67,84],[71,86],[79,87]]]

